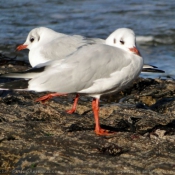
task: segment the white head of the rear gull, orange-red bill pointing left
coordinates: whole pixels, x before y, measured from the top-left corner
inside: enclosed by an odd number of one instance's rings
[[[46,28],[38,27],[31,30],[27,36],[24,44],[19,45],[17,50],[29,49],[39,47],[42,44],[46,44],[57,37],[58,33]]]

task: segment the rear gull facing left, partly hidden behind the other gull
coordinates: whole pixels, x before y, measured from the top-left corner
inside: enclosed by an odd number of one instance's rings
[[[66,56],[74,53],[82,46],[89,44],[107,44],[120,48],[120,43],[117,43],[115,40],[117,35],[118,30],[115,30],[106,40],[103,40],[99,38],[86,38],[80,35],[66,35],[46,27],[38,27],[29,32],[25,43],[19,45],[17,50],[29,49],[29,62],[32,67],[35,67],[50,60],[66,58]],[[142,72],[163,73],[164,71],[157,69],[156,66],[145,64],[143,65]],[[46,100],[60,95],[62,94],[51,93],[38,98],[36,101],[44,103]],[[67,111],[69,114],[76,111],[78,98],[79,95],[77,94],[72,109]]]

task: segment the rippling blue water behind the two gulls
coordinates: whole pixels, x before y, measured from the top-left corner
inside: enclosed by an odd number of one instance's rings
[[[128,27],[137,35],[145,63],[166,71],[142,76],[175,77],[174,0],[1,0],[0,24],[0,52],[9,56],[16,55],[16,46],[38,26],[103,39]],[[17,53],[17,59],[27,60],[27,53]]]

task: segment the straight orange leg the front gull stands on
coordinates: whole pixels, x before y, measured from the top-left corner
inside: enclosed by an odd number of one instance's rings
[[[97,135],[110,135],[114,132],[102,129],[100,127],[100,121],[99,121],[99,99],[94,98],[92,101],[92,109],[94,112],[94,119],[95,119],[95,133]]]

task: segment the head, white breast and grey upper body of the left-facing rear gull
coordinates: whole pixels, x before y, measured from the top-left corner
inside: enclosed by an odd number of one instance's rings
[[[85,38],[81,35],[66,35],[46,27],[31,30],[24,44],[17,50],[29,49],[32,67],[51,60],[63,59],[86,44],[103,43],[102,39]]]

